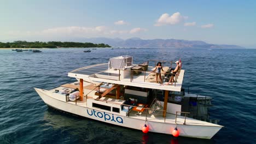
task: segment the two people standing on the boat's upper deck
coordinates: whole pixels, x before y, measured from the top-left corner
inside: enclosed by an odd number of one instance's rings
[[[174,82],[174,76],[176,75],[176,73],[179,70],[179,61],[176,61],[175,63],[176,63],[176,68],[174,70],[171,70],[172,75],[171,75],[171,78],[170,78],[170,80],[168,81],[168,83],[166,85],[169,85],[170,82],[171,82],[171,85],[172,85],[172,83]],[[151,73],[153,73],[155,70],[156,70],[156,75],[155,75],[156,83],[158,83],[158,78],[159,78],[160,85],[162,85],[161,70],[164,71],[164,69],[162,69],[162,63],[161,62],[158,62],[155,69],[153,71],[151,71]],[[166,73],[166,71],[164,71],[164,73]]]

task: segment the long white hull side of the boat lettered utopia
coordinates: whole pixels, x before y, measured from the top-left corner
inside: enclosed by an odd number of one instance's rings
[[[196,137],[201,139],[211,139],[222,126],[207,126],[207,125],[189,125],[189,124],[176,124],[176,123],[165,123],[165,122],[155,122],[155,121],[145,121],[143,118],[129,117],[115,115],[110,112],[104,112],[98,109],[90,109],[85,106],[75,105],[67,103],[59,99],[50,97],[49,93],[43,89],[35,88],[37,93],[43,99],[44,103],[54,107],[55,109],[73,113],[75,115],[95,119],[97,121],[102,121],[106,123],[111,123],[115,125],[120,125],[122,127],[132,128],[142,130],[144,124],[146,123],[149,127],[150,132],[162,133],[162,134],[172,134],[175,127],[179,130],[180,136],[185,137]],[[173,119],[172,119],[173,120]],[[216,124],[217,125],[217,124]]]

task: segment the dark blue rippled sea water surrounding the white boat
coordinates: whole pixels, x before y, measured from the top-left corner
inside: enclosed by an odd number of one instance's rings
[[[255,49],[83,50],[0,50],[0,143],[256,143]],[[69,71],[121,55],[134,63],[181,58],[184,88],[213,97],[210,116],[224,128],[211,140],[143,134],[50,109],[33,89],[74,82]]]

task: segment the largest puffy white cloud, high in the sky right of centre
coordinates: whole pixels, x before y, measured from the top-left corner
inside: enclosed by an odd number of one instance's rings
[[[159,17],[154,26],[176,25],[184,19],[188,19],[188,17],[182,16],[179,12],[174,13],[171,16],[165,13]]]

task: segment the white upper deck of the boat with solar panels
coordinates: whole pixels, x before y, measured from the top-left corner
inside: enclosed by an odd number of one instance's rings
[[[180,70],[178,75],[176,75],[177,79],[173,85],[166,85],[168,81],[165,81],[165,79],[170,79],[170,76],[163,77],[163,85],[160,85],[155,81],[155,73],[150,73],[154,67],[147,66],[147,69],[143,69],[133,64],[125,69],[114,69],[108,66],[108,63],[90,65],[88,67],[75,69],[69,72],[68,76],[92,83],[107,82],[177,92],[180,92],[182,88],[184,70]],[[170,71],[169,67],[163,68],[165,68],[165,71]],[[162,76],[164,76],[164,73],[162,73]]]

